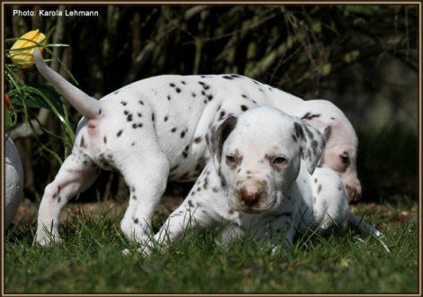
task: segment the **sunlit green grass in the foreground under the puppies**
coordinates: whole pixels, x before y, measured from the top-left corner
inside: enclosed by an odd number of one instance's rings
[[[134,245],[119,218],[75,217],[61,228],[66,243],[52,247],[32,246],[34,225],[22,223],[4,240],[4,293],[418,293],[417,209],[365,207],[358,213],[383,226],[390,255],[369,235],[338,229],[297,238],[288,255],[248,238],[223,248],[190,233],[149,257],[125,257]],[[390,211],[409,212],[387,220]]]

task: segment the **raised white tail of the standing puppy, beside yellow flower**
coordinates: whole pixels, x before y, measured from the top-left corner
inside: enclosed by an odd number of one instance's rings
[[[70,84],[65,78],[53,71],[44,62],[39,49],[34,49],[34,60],[40,74],[44,76],[51,85],[58,88],[66,100],[75,107],[76,111],[81,113],[87,119],[95,119],[100,112],[101,103],[93,97],[85,94],[75,85]]]

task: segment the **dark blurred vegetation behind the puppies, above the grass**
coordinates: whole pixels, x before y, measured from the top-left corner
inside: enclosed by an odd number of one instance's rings
[[[13,17],[16,8],[94,10],[99,16]],[[329,99],[346,112],[362,141],[364,199],[389,199],[392,193],[383,189],[392,183],[400,196],[417,197],[411,182],[418,168],[416,5],[36,5],[6,6],[4,15],[8,38],[56,26],[49,43],[70,47],[53,52],[96,98],[148,76],[239,73],[304,99]],[[56,60],[51,67],[68,77]],[[34,67],[20,75],[45,84]],[[47,130],[68,139],[58,117],[32,112]],[[75,127],[79,115],[73,109],[68,114]],[[40,133],[45,147],[66,157],[70,141]],[[59,160],[31,134],[26,126],[11,136],[23,158],[26,197],[38,201]],[[381,138],[390,145],[369,155],[368,147],[380,146]],[[95,188],[126,197],[119,175],[103,173],[81,200],[95,197]]]

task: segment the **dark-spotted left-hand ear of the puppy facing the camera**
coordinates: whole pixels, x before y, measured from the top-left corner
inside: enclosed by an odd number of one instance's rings
[[[225,140],[228,139],[230,132],[235,129],[238,118],[232,114],[221,121],[215,123],[207,132],[205,140],[213,158],[214,166],[220,167],[221,153]]]

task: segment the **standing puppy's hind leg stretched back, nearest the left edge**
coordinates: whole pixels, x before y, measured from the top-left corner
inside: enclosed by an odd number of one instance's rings
[[[66,158],[58,175],[46,186],[40,202],[35,235],[40,245],[49,245],[52,241],[62,242],[58,235],[60,211],[70,198],[93,184],[98,174],[98,167],[88,159],[81,161],[73,154]]]

